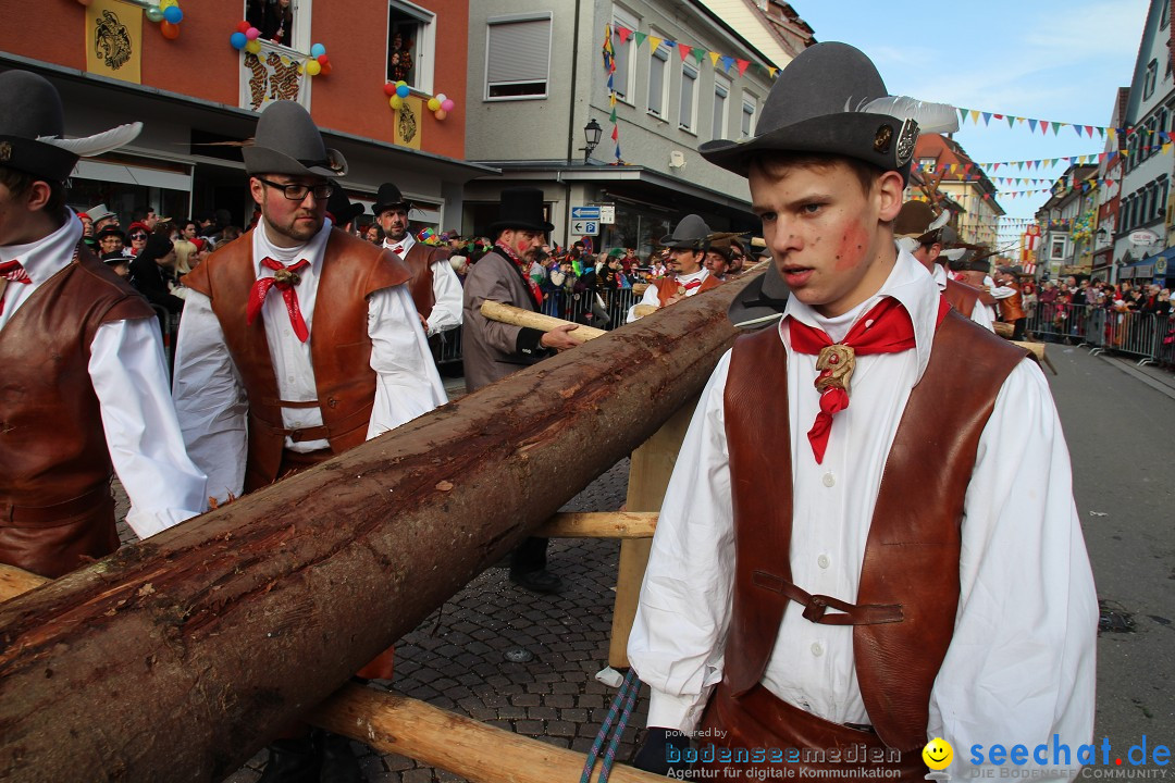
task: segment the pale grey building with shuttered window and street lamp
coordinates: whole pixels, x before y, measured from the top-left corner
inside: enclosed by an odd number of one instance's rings
[[[687,212],[757,230],[746,180],[697,151],[753,134],[773,69],[791,60],[751,9],[743,22],[761,48],[696,0],[471,4],[466,156],[502,176],[469,183],[463,232],[483,234],[516,184],[543,189],[559,244],[644,255]],[[582,220],[593,205],[603,220]]]

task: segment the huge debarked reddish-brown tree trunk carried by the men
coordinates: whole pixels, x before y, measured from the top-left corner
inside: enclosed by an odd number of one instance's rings
[[[744,284],[0,605],[0,778],[231,774],[697,394]]]

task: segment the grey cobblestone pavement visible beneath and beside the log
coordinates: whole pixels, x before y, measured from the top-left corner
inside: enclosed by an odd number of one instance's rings
[[[592,482],[564,511],[615,511],[624,502],[629,460]],[[121,495],[121,492],[120,492]],[[125,500],[120,508],[125,512]],[[121,518],[122,514],[120,514]],[[129,535],[128,531],[125,531]],[[550,566],[563,593],[542,596],[515,587],[506,568],[491,567],[396,646],[396,679],[375,683],[436,707],[543,742],[586,752],[616,689],[596,682],[607,666],[619,544],[552,540]],[[533,657],[505,659],[512,649]],[[631,756],[644,725],[647,690],[617,757]],[[371,783],[454,783],[456,775],[352,743]],[[266,752],[228,778],[253,783]]]

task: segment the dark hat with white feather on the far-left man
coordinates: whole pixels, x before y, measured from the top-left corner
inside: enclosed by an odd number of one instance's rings
[[[0,166],[62,182],[79,157],[100,155],[133,141],[141,122],[83,139],[62,139],[65,113],[56,88],[27,70],[0,74]]]

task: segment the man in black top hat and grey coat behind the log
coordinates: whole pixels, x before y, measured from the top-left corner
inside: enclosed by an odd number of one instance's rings
[[[540,245],[552,229],[543,217],[542,190],[506,188],[502,191],[498,222],[489,229],[494,250],[472,264],[465,278],[462,353],[465,389],[470,393],[582,342],[571,333],[575,324],[540,332],[490,320],[482,315],[482,303],[486,299],[540,311],[543,293],[529,277],[530,265],[524,256]],[[546,539],[531,538],[515,549],[510,578],[539,593],[558,592],[559,578],[546,571]]]

